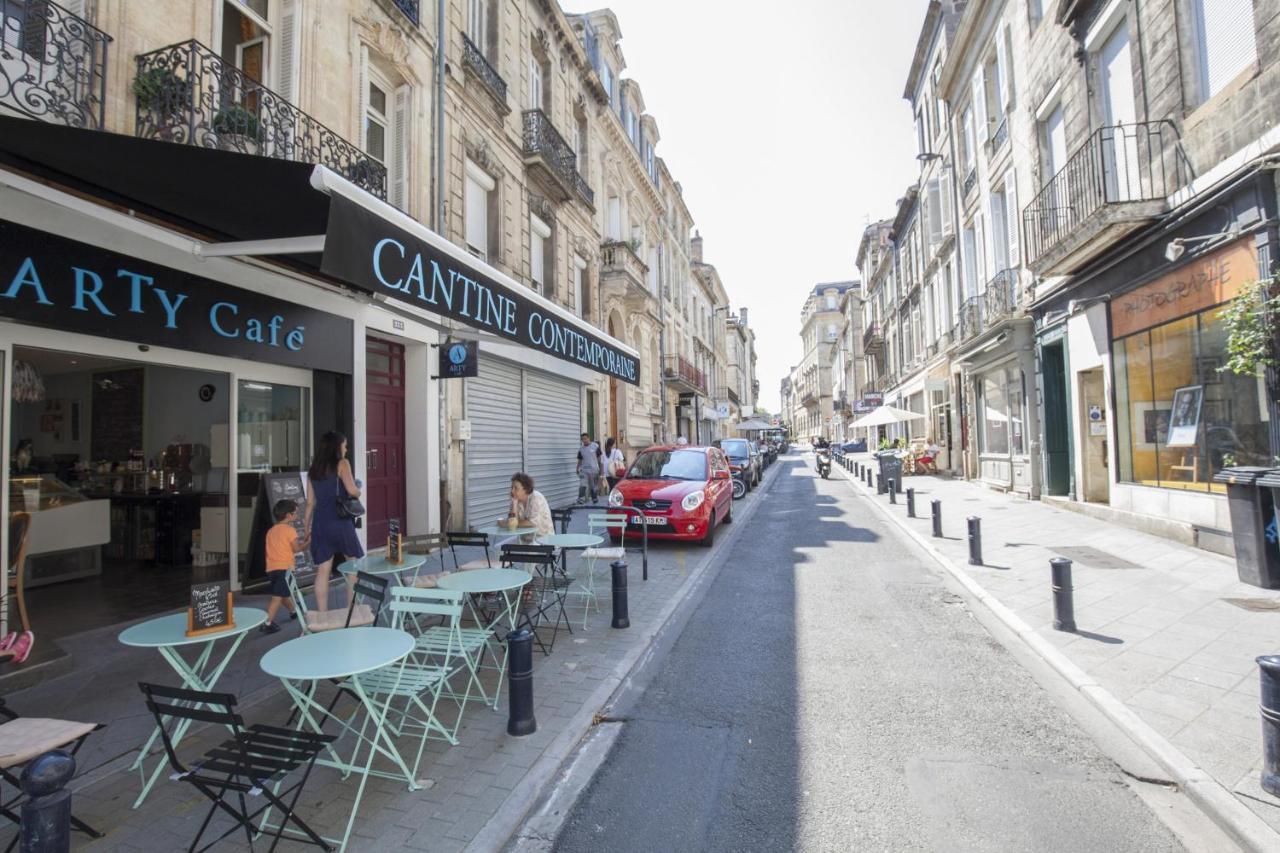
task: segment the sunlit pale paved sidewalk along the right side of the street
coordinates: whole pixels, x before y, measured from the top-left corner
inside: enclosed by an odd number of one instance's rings
[[[1215,820],[1280,849],[1280,800],[1260,784],[1254,663],[1280,652],[1280,594],[1239,583],[1230,558],[964,480],[906,478],[919,516],[908,519],[905,489],[890,505],[851,471],[835,471],[961,583],[975,584],[997,616],[1155,753]],[[942,539],[932,537],[933,500],[942,501]],[[968,516],[982,519],[982,566],[968,565]],[[1055,556],[1074,561],[1075,634],[1052,628]],[[1210,779],[1197,781],[1192,765]]]

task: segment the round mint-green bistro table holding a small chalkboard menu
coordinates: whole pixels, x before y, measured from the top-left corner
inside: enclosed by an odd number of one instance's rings
[[[173,671],[178,674],[182,679],[182,686],[188,690],[201,690],[210,692],[214,685],[218,684],[218,679],[221,678],[223,670],[232,661],[232,654],[239,648],[239,644],[244,642],[244,635],[253,630],[259,625],[266,621],[266,611],[259,610],[257,607],[236,607],[233,610],[236,615],[236,626],[228,628],[224,631],[218,631],[216,634],[201,634],[200,637],[187,637],[187,611],[180,613],[169,613],[168,616],[157,616],[155,619],[148,619],[145,622],[138,622],[137,625],[131,625],[120,631],[119,640],[124,646],[133,646],[134,648],[154,648],[160,652],[160,657],[165,660]],[[230,639],[232,643],[223,652],[221,660],[212,663],[214,660],[214,646],[220,639]],[[188,663],[186,658],[178,652],[183,646],[198,646],[198,654],[193,663]],[[187,734],[187,729],[191,725],[191,720],[179,720],[178,725],[173,731],[173,745],[178,745],[183,735]],[[151,792],[151,786],[156,784],[160,777],[160,772],[164,770],[166,758],[160,756],[156,760],[155,770],[151,775],[147,775],[145,762],[147,753],[151,752],[151,747],[155,744],[156,738],[160,736],[160,729],[156,727],[147,738],[147,742],[142,744],[142,749],[138,751],[138,757],[133,760],[129,770],[137,770],[138,775],[142,777],[142,792],[138,798],[133,800],[133,808],[142,804],[142,800],[147,798]]]

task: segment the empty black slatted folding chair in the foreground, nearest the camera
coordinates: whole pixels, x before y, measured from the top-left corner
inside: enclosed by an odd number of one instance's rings
[[[205,836],[209,822],[218,811],[234,818],[236,825],[200,848],[201,850],[207,850],[238,829],[244,830],[244,839],[251,848],[255,834],[262,833],[274,835],[271,850],[285,834],[292,840],[315,844],[324,850],[333,849],[294,813],[294,807],[298,803],[298,797],[302,795],[302,788],[306,785],[312,767],[315,767],[316,756],[328,744],[337,740],[334,735],[294,731],[293,729],[261,724],[246,729],[244,720],[236,712],[236,697],[230,693],[206,693],[143,683],[140,683],[138,686],[146,697],[147,710],[151,711],[156,725],[160,726],[160,738],[164,742],[165,753],[169,756],[169,766],[174,770],[170,779],[191,784],[212,803],[188,850],[196,850],[196,845]],[[232,730],[232,736],[206,752],[197,763],[187,767],[178,758],[169,736],[169,725],[178,720],[227,726]],[[280,790],[284,779],[300,767],[305,768],[302,779],[291,788]],[[291,793],[293,798],[285,802]],[[228,794],[236,794],[239,808],[228,802]],[[246,794],[265,797],[266,803],[250,812],[244,800]],[[280,809],[278,826],[257,827],[253,825],[260,815],[273,808]],[[289,829],[291,824],[296,829]],[[270,831],[271,829],[274,831]]]

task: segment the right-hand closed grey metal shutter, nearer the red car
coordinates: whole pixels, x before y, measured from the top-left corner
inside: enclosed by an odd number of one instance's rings
[[[577,500],[573,459],[582,433],[581,386],[525,371],[525,470],[552,507]]]

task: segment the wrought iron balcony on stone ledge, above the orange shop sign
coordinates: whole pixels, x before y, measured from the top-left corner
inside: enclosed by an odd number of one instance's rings
[[[1164,214],[1190,178],[1172,122],[1098,128],[1023,209],[1028,266],[1041,275],[1076,272]]]

